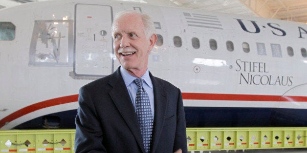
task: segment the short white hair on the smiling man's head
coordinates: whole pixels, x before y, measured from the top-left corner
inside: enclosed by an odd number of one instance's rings
[[[112,35],[114,33],[114,23],[122,16],[124,15],[128,15],[128,14],[137,14],[141,17],[142,21],[143,21],[143,24],[144,24],[144,33],[145,33],[145,36],[146,38],[150,38],[153,34],[154,34],[154,31],[155,31],[155,27],[154,27],[154,21],[152,20],[152,18],[147,15],[147,14],[142,14],[142,13],[139,13],[137,11],[134,11],[134,10],[129,10],[129,11],[121,11],[121,12],[118,12],[116,15],[115,15],[115,18],[113,20],[113,23],[112,23]]]

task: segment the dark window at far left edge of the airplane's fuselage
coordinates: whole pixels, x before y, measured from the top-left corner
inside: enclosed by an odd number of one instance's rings
[[[0,40],[14,40],[16,26],[11,22],[0,22]]]

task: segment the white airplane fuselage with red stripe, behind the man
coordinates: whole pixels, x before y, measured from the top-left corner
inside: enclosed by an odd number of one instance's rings
[[[153,18],[160,38],[148,69],[181,90],[185,107],[306,113],[307,24],[141,3],[59,0],[0,10],[0,22],[15,26],[14,39],[0,40],[0,129],[77,109],[79,88],[119,67],[110,27],[115,13],[132,9]]]

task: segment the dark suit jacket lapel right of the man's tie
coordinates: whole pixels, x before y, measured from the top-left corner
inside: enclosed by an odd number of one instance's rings
[[[166,94],[161,84],[152,74],[150,74],[154,85],[154,133],[152,142],[152,153],[155,152],[158,144],[166,110]]]

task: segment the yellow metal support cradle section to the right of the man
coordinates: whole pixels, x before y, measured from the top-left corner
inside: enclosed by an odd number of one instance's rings
[[[307,148],[307,127],[187,128],[189,151]]]

